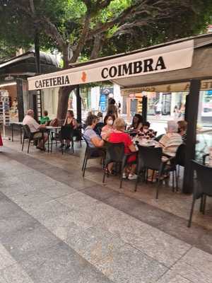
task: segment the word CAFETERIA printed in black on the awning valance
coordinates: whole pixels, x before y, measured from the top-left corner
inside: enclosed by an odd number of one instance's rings
[[[57,76],[55,78],[35,81],[35,88],[49,88],[51,86],[64,86],[69,84],[69,76]]]

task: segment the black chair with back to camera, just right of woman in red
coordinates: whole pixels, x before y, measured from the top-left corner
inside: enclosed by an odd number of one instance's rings
[[[162,161],[163,150],[161,147],[154,146],[139,146],[139,158],[137,163],[137,175],[138,178],[136,180],[135,192],[137,190],[137,186],[140,178],[148,177],[148,169],[158,171],[158,187],[156,191],[156,199],[158,199],[159,185],[163,174],[169,171],[170,168],[167,168],[167,162],[171,160],[171,158],[167,157],[166,161]],[[173,185],[173,184],[172,184]],[[174,187],[174,185],[173,185]]]

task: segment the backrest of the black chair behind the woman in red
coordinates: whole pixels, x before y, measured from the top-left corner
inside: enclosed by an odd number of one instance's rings
[[[105,141],[106,147],[106,164],[110,162],[122,162],[124,158],[124,143],[119,142],[114,144],[109,141]]]

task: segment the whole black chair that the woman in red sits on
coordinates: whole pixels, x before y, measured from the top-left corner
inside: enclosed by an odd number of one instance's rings
[[[105,175],[107,174],[108,165],[110,163],[114,163],[117,167],[119,166],[120,170],[120,188],[122,187],[122,180],[123,180],[123,173],[126,163],[129,160],[129,157],[134,155],[135,153],[132,152],[131,154],[124,154],[124,143],[111,143],[109,141],[105,141],[106,147],[106,157],[105,157],[105,171],[103,175],[102,183],[105,183]]]

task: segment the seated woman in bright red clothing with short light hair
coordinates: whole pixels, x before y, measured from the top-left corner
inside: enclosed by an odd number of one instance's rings
[[[110,137],[108,141],[117,144],[119,142],[124,143],[124,153],[130,154],[131,152],[136,151],[136,147],[134,146],[133,142],[131,141],[131,138],[129,137],[129,134],[126,134],[124,132],[125,130],[125,122],[122,118],[117,118],[117,120],[114,121],[114,132],[110,134]],[[128,163],[134,163],[136,162],[136,153],[131,156],[128,160]],[[127,178],[127,174],[129,180],[134,180],[137,178],[137,175],[135,174],[136,171],[136,164],[131,164],[131,166],[128,166],[129,168],[125,168],[125,171],[123,173],[123,178]]]

